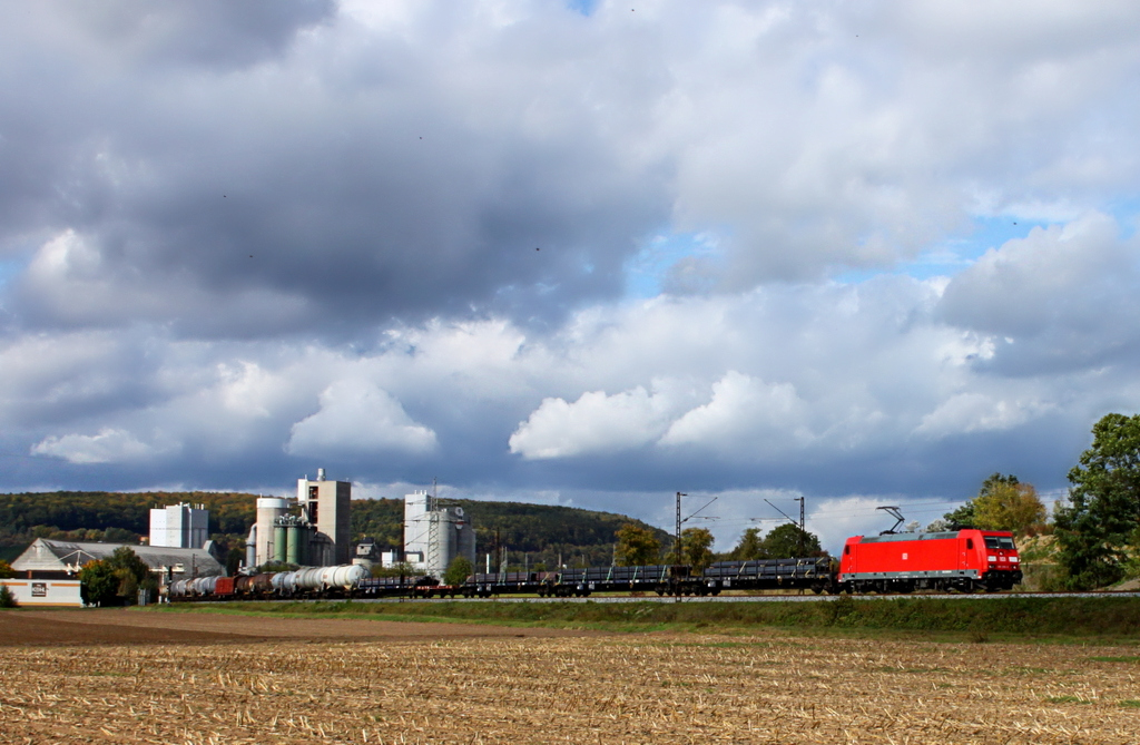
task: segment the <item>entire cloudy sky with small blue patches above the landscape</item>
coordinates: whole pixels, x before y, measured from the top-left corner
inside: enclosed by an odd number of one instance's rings
[[[2,491],[834,548],[1140,410],[1130,1],[5,0],[0,89]]]

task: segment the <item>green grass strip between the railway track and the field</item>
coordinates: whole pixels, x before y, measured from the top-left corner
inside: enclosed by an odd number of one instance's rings
[[[249,613],[296,617],[376,618],[605,629],[719,630],[769,626],[804,630],[952,632],[1140,639],[1140,598],[936,598],[828,602],[226,602],[163,606],[163,612]]]

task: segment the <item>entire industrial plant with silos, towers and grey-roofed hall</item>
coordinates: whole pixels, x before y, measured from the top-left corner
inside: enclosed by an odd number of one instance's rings
[[[295,497],[258,496],[244,561],[236,572],[241,576],[230,580],[252,582],[269,576],[262,572],[266,565],[291,565],[304,568],[301,578],[307,589],[321,590],[339,586],[344,577],[351,576],[353,582],[367,577],[377,562],[401,566],[408,574],[435,582],[456,557],[474,565],[475,532],[463,508],[445,505],[426,491],[408,494],[404,544],[381,552],[372,538],[352,541],[351,500],[352,484],[326,478],[323,468],[315,479],[298,479]],[[107,559],[122,545],[142,559],[164,591],[174,585],[213,588],[227,578],[225,554],[210,541],[205,505],[155,507],[149,518],[150,533],[144,545],[38,538],[13,562],[21,576],[3,584],[26,605],[82,605],[79,572],[89,561]]]

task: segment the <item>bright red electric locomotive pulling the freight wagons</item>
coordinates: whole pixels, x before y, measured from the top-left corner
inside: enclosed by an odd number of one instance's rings
[[[996,592],[1021,582],[1021,565],[1003,531],[856,535],[844,545],[837,581],[847,592]]]

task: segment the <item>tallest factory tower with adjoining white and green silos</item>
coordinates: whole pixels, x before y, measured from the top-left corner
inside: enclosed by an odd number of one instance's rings
[[[298,566],[349,564],[355,552],[349,510],[352,484],[317,478],[298,479],[296,500],[258,497],[256,523],[246,538],[246,565],[267,561]]]

